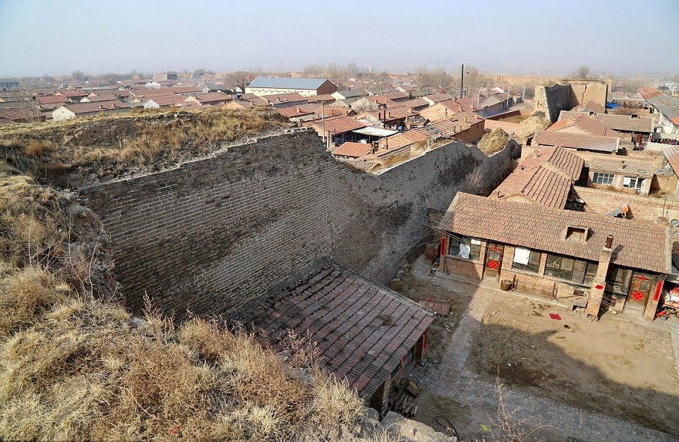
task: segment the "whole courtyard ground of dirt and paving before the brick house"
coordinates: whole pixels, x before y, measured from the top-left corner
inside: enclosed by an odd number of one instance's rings
[[[413,375],[422,390],[417,420],[442,430],[445,417],[465,441],[493,440],[507,417],[522,423],[514,431],[547,441],[679,435],[678,319],[591,321],[570,305],[430,269],[421,257],[390,283],[411,299],[451,306]]]

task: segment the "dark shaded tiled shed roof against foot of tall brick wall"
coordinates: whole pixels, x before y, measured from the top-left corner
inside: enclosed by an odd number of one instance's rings
[[[332,262],[256,300],[236,316],[268,332],[277,345],[307,331],[321,364],[369,399],[399,367],[433,315],[415,302]]]

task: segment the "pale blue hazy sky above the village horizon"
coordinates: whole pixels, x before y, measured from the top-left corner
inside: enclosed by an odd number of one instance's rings
[[[301,70],[679,73],[679,0],[0,0],[0,76]]]

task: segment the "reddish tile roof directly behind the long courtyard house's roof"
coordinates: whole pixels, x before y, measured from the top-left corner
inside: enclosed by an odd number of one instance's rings
[[[523,195],[532,202],[555,209],[566,206],[572,181],[546,167],[517,168],[492,193],[495,198]]]

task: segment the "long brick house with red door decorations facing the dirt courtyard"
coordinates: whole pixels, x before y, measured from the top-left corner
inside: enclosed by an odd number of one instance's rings
[[[441,228],[441,271],[653,320],[671,273],[668,228],[458,192]]]

